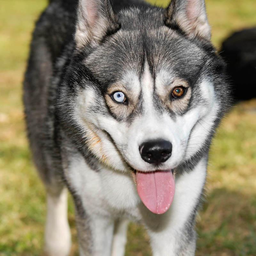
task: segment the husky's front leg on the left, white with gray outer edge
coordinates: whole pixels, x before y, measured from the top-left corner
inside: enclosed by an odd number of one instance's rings
[[[64,134],[62,135],[64,138]],[[62,141],[62,143],[64,143]],[[62,147],[64,177],[73,196],[80,256],[110,256],[114,218],[104,207],[100,172],[65,141]]]

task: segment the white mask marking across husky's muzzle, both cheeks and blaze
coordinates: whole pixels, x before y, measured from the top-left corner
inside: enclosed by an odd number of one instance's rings
[[[164,71],[160,74],[163,77],[156,77],[156,90],[161,89],[160,83],[168,86],[168,74]],[[172,76],[169,79],[172,80]],[[168,111],[160,114],[155,108],[154,81],[147,62],[140,80],[138,75],[131,71],[127,72],[124,80],[126,82],[123,81],[122,84],[127,83],[127,88],[132,90],[131,95],[138,97],[140,92],[142,95],[140,100],[143,111],[129,124],[120,122],[111,115],[94,112],[93,108],[98,108],[95,104],[102,104],[103,107],[105,105],[104,100],[94,100],[94,89],[86,89],[78,97],[78,122],[87,132],[89,148],[102,162],[123,172],[127,171],[128,165],[135,170],[155,171],[155,165],[142,159],[139,147],[146,141],[161,139],[172,143],[172,155],[159,168],[170,170],[204,146],[218,111],[213,86],[209,81],[200,84],[202,100],[198,101],[198,106],[173,118]],[[162,84],[162,90],[163,88]],[[116,91],[113,98],[117,102],[123,102],[125,95],[122,91]],[[109,135],[112,140],[109,140]]]

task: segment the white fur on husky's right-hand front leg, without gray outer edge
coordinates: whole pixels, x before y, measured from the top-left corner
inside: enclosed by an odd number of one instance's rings
[[[180,243],[176,239],[180,238],[185,221],[198,203],[206,178],[206,167],[207,160],[203,159],[192,172],[185,172],[176,179],[175,196],[171,208],[160,216],[152,214],[151,219],[148,220],[154,222],[157,227],[148,229],[154,256],[175,256],[179,250],[177,245]],[[195,248],[192,248],[189,255],[194,255],[194,251]]]

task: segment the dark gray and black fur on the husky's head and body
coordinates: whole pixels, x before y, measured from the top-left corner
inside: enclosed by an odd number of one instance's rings
[[[30,147],[47,193],[59,195],[64,186],[68,187],[76,205],[81,252],[86,252],[85,255],[98,255],[99,252],[94,248],[97,239],[93,239],[92,224],[97,216],[92,215],[90,207],[84,204],[81,189],[74,183],[75,179],[72,180],[72,175],[76,174],[72,168],[74,163],[84,166],[84,171],[77,170],[81,175],[86,172],[86,168],[95,173],[105,172],[107,169],[111,173],[119,170],[113,167],[115,163],[109,164],[104,162],[105,159],[99,159],[97,153],[90,148],[88,141],[91,140],[91,135],[77,121],[79,95],[86,90],[92,90],[97,95],[86,109],[88,115],[108,116],[109,120],[130,127],[134,120],[147,111],[143,88],[140,88],[133,105],[132,99],[128,101],[132,107],[125,115],[122,112],[123,105],[112,107],[106,103],[109,100],[107,97],[110,85],[123,81],[127,69],[142,79],[145,67],[148,66],[154,84],[152,111],[159,116],[168,113],[174,121],[200,104],[207,106],[200,84],[204,80],[209,81],[221,111],[214,116],[213,124],[200,148],[175,166],[175,179],[179,180],[184,173],[193,172],[201,161],[207,159],[215,128],[228,109],[229,89],[225,64],[210,42],[210,27],[203,0],[172,0],[167,9],[134,0],[115,0],[112,9],[108,0],[97,0],[93,2],[96,6],[93,7],[96,11],[95,20],[90,20],[84,14],[84,3],[87,2],[81,0],[80,5],[78,2],[50,1],[37,21],[25,75],[23,100]],[[193,11],[193,15],[187,15],[186,13],[191,13],[191,7],[195,6],[197,11]],[[175,103],[175,99],[171,99],[172,102],[168,105],[159,96],[156,76],[161,70],[188,83],[191,97],[184,107],[178,109],[180,105]],[[131,92],[134,90],[133,84],[129,85],[128,82],[126,86],[130,86]],[[172,82],[170,78],[170,83]],[[168,83],[164,86],[169,88]],[[85,122],[89,122],[90,116],[85,118]],[[96,128],[93,132],[100,130],[120,157],[125,172],[132,173],[133,163],[124,156],[127,146],[118,143],[107,130]],[[195,129],[196,124],[188,137]],[[199,193],[185,225],[177,232],[178,237],[175,239],[178,249],[166,252],[166,255],[194,255],[195,214],[201,194],[202,192]],[[164,229],[162,225],[169,216],[154,216],[141,204],[127,211],[110,208],[102,211],[104,214],[99,214],[99,223],[105,223],[105,219],[111,219],[111,223],[114,223],[122,218],[133,218],[144,222],[149,231],[152,231],[152,236],[157,236],[158,231]],[[154,222],[149,223],[151,220]],[[109,253],[106,251],[105,255],[110,255]]]

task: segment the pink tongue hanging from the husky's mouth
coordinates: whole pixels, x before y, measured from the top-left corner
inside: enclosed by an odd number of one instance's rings
[[[137,191],[151,212],[166,212],[174,197],[175,184],[171,171],[136,172]]]

